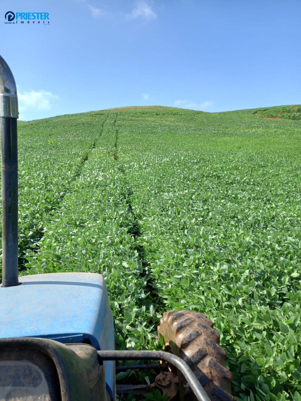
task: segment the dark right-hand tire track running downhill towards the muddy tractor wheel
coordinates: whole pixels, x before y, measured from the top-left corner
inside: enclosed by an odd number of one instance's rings
[[[116,117],[114,119],[113,125],[114,125],[114,144],[113,144],[113,154],[114,154],[114,160],[118,162],[118,126],[116,124],[116,118],[117,118],[117,113]],[[159,310],[162,310],[165,308],[165,305],[163,302],[161,302],[160,297],[157,294],[157,291],[155,287],[152,284],[152,277],[148,275],[148,261],[146,258],[146,253],[144,250],[143,245],[141,245],[139,239],[142,237],[142,230],[140,227],[139,219],[136,216],[134,207],[133,207],[133,196],[134,192],[132,190],[132,187],[130,185],[130,182],[128,181],[128,178],[126,176],[126,170],[124,169],[124,166],[120,163],[118,166],[118,170],[122,174],[122,180],[124,183],[124,191],[122,192],[122,198],[124,199],[127,207],[127,212],[128,212],[128,227],[127,227],[127,232],[128,234],[132,235],[134,238],[134,244],[132,245],[132,249],[137,252],[139,260],[142,265],[142,271],[140,275],[145,279],[146,281],[146,287],[145,290],[148,293],[148,298],[152,301],[152,304],[155,304],[156,306],[159,306]],[[158,323],[157,321],[153,323]]]

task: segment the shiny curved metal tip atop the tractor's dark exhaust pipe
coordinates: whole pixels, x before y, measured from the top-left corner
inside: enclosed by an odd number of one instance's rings
[[[18,95],[12,71],[0,56],[0,117],[18,118]]]

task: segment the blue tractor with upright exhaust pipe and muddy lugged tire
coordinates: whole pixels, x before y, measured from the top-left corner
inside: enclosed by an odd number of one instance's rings
[[[18,277],[17,118],[16,84],[0,56],[0,400],[110,401],[117,395],[143,397],[156,389],[168,400],[235,400],[226,351],[204,314],[163,313],[158,326],[162,351],[115,350],[102,275]],[[120,365],[126,360],[139,364]],[[125,369],[155,369],[158,374],[152,384],[116,386],[116,371]]]

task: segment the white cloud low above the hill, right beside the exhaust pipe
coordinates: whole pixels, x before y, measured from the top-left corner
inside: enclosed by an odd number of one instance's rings
[[[59,99],[59,96],[53,95],[51,92],[44,91],[28,91],[22,92],[18,89],[19,111],[26,112],[30,110],[49,110],[53,100]],[[20,117],[21,118],[21,117]]]

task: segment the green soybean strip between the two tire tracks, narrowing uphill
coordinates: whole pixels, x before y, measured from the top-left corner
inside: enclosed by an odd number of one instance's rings
[[[114,160],[115,115],[108,116],[101,141],[44,227],[38,252],[27,253],[26,268],[30,274],[101,272],[114,316],[116,345],[145,347],[152,343],[153,326],[148,322],[154,306],[134,245],[132,194],[122,166]]]

